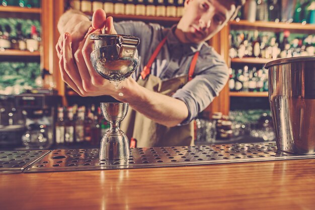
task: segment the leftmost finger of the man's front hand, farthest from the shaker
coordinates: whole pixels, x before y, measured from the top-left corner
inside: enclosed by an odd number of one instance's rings
[[[74,63],[72,48],[71,48],[71,36],[69,33],[64,34],[62,46],[62,59],[63,59],[63,69],[68,77],[71,79],[72,83],[68,84],[71,88],[76,86],[76,89],[83,93],[82,79],[78,72],[78,69]],[[75,88],[73,88],[75,90]],[[76,90],[75,90],[76,91]]]

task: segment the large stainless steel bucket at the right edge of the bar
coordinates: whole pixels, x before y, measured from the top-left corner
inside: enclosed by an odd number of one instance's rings
[[[265,67],[277,148],[315,154],[315,56],[278,59]]]

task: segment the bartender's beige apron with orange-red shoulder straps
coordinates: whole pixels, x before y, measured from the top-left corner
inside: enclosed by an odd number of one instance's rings
[[[137,83],[150,91],[172,96],[192,79],[199,52],[196,52],[192,59],[188,75],[162,81],[160,78],[150,75],[150,67],[165,42],[166,38],[157,46],[148,64],[143,68]],[[130,107],[120,128],[129,139],[135,138],[137,147],[171,147],[194,144],[193,122],[182,126],[167,127],[152,121]]]

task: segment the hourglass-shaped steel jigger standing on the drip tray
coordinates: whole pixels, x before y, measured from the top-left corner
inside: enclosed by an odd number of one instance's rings
[[[119,123],[128,112],[128,106],[128,103],[101,103],[102,114],[110,123],[110,129],[101,141],[101,160],[127,160],[129,158],[128,137],[119,128]]]

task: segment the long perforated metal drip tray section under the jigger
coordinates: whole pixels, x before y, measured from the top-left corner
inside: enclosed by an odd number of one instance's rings
[[[98,149],[54,150],[25,172],[78,171],[206,165],[315,158],[277,151],[274,143],[192,147],[134,148],[127,161],[100,160]]]

